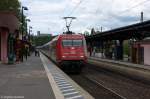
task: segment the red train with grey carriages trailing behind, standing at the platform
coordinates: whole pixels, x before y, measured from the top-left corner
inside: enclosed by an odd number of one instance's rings
[[[67,72],[80,72],[87,61],[86,41],[81,34],[62,34],[42,46],[43,51]]]

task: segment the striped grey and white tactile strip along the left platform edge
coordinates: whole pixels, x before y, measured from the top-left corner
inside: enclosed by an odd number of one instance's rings
[[[58,88],[65,99],[84,99],[84,97],[72,86],[62,72],[45,58],[46,65],[54,78]]]

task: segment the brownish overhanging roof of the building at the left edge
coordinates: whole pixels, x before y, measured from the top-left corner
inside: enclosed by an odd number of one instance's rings
[[[0,11],[0,27],[8,28],[11,33],[19,29],[19,20],[13,12]]]

